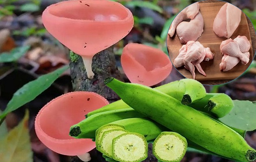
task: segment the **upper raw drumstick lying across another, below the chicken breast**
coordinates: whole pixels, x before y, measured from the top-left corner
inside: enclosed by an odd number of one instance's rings
[[[223,54],[227,54],[236,58],[239,58],[242,64],[247,64],[249,62],[249,58],[247,58],[239,49],[239,44],[237,42],[230,42],[227,45],[224,45],[221,48],[221,52]]]

